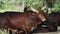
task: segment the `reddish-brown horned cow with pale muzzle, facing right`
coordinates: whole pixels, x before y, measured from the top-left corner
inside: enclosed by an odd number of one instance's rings
[[[44,21],[45,17],[43,13],[30,12],[5,12],[0,16],[0,26],[3,28],[22,29],[26,34],[29,34],[39,23]],[[4,19],[4,21],[3,21]]]

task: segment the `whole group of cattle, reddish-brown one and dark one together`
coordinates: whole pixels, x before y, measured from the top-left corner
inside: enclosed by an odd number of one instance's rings
[[[0,13],[0,28],[10,29],[15,34],[57,32],[59,22],[60,13],[58,12],[49,15],[42,10]]]

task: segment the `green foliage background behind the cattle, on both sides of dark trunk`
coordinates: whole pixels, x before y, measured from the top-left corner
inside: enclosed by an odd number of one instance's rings
[[[6,11],[6,10],[19,10],[20,8],[24,7],[19,7],[22,6],[24,3],[24,6],[32,6],[35,9],[42,8],[48,0],[0,0],[0,12],[1,11]],[[45,8],[46,9],[46,8]],[[60,0],[55,0],[52,11],[59,11],[60,10]]]

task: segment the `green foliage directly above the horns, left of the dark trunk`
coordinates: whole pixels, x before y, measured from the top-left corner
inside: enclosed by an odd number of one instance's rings
[[[35,9],[43,7],[44,0],[25,0],[25,5],[32,6]]]

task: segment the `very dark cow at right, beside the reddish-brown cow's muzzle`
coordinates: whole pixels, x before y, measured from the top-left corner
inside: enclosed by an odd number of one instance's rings
[[[52,32],[57,31],[57,27],[60,26],[60,13],[51,13],[47,18],[45,22],[48,27],[51,29]]]

